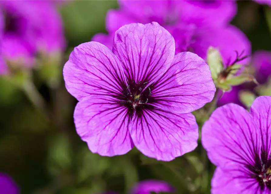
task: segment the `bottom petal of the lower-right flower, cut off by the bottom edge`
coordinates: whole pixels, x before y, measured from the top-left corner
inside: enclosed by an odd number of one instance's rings
[[[211,185],[212,194],[261,193],[256,179],[247,177],[242,171],[222,170],[219,167],[215,169]]]

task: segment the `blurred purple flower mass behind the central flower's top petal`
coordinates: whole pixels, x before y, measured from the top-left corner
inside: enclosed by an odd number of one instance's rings
[[[249,55],[251,45],[246,35],[228,23],[237,11],[235,1],[127,1],[119,0],[120,9],[110,10],[106,17],[109,35],[97,34],[93,41],[108,48],[113,46],[113,34],[122,25],[158,22],[175,39],[176,53],[191,51],[203,59],[209,46],[217,47],[223,59],[235,58],[235,50]],[[243,63],[247,63],[244,60]]]

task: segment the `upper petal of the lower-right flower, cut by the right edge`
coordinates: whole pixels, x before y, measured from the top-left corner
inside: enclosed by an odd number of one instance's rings
[[[271,154],[271,96],[256,98],[250,113],[260,129],[260,141],[267,157]]]

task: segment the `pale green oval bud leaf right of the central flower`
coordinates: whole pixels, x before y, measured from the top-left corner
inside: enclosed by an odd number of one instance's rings
[[[218,49],[209,47],[207,52],[207,63],[212,73],[212,79],[217,79],[224,66]]]

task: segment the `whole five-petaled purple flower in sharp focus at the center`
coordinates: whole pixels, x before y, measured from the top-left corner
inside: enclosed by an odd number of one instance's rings
[[[122,155],[136,146],[169,161],[195,149],[190,112],[212,101],[215,86],[203,59],[174,53],[174,38],[156,22],[121,27],[113,52],[98,42],[74,49],[63,75],[79,100],[77,133],[93,153]]]

